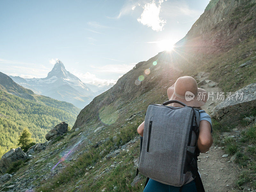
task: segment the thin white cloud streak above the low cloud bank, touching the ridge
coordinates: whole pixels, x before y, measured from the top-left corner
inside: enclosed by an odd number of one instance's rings
[[[101,72],[101,73],[120,73],[125,74],[128,71],[130,71],[135,65],[134,64],[119,64],[119,65],[104,65],[101,67],[91,66],[91,68],[94,68],[95,71]]]

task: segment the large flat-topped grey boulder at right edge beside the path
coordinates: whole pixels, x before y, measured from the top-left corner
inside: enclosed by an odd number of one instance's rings
[[[236,100],[236,95],[240,96],[241,93],[243,93],[243,99]],[[234,100],[226,99],[212,111],[212,116],[216,117],[221,123],[237,123],[244,114],[250,113],[256,107],[256,83],[239,89],[231,97]]]

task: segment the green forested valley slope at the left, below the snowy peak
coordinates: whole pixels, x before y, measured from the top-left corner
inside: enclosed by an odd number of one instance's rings
[[[45,134],[65,121],[73,126],[80,109],[73,104],[36,95],[0,72],[0,156],[17,147],[19,134],[27,127],[35,142],[44,142]]]

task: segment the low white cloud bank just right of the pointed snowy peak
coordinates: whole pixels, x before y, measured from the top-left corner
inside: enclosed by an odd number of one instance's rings
[[[92,74],[90,72],[81,73],[77,70],[73,71],[72,74],[77,76],[79,79],[81,79],[84,83],[92,84],[92,85],[110,85],[110,84],[116,84],[117,79],[100,79],[95,74]]]

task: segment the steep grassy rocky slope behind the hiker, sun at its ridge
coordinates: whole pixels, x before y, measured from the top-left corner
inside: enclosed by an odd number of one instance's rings
[[[183,75],[211,93],[255,83],[255,7],[255,1],[212,0],[174,51],[138,63],[95,97],[72,130],[35,153],[2,190],[142,191],[145,177],[135,177],[136,129],[147,106],[168,100],[167,88]],[[219,102],[208,100],[204,109],[210,112]],[[256,128],[240,123],[213,120],[214,145],[198,163],[206,191],[255,191]]]

